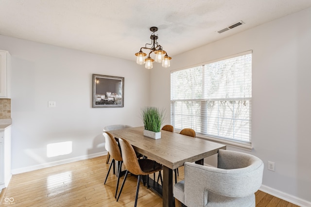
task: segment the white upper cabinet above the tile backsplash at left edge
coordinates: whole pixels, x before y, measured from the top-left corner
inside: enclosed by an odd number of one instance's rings
[[[10,98],[11,55],[0,50],[0,98]]]

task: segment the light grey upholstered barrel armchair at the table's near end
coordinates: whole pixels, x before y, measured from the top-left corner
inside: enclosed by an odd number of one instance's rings
[[[255,207],[262,182],[261,159],[242,152],[218,151],[218,166],[185,162],[185,179],[174,186],[175,206]],[[180,203],[181,202],[181,203]]]

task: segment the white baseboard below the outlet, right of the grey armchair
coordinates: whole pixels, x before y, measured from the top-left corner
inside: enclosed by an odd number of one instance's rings
[[[269,193],[270,195],[276,196],[277,198],[288,201],[288,202],[295,204],[297,206],[300,206],[300,207],[311,207],[310,201],[303,200],[303,199],[298,198],[294,195],[290,195],[288,193],[278,191],[276,189],[270,188],[270,187],[265,186],[265,185],[261,185],[259,190],[266,192],[266,193]]]

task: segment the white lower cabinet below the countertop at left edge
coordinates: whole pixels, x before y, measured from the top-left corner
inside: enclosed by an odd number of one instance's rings
[[[0,190],[11,180],[11,126],[0,131]]]

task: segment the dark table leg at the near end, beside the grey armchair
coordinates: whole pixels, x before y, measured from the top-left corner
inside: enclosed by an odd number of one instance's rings
[[[173,170],[163,166],[163,207],[173,207]]]

